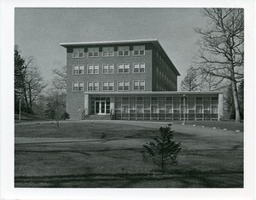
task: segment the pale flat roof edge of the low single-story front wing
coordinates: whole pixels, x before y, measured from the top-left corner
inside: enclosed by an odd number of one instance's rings
[[[207,94],[223,94],[221,91],[140,91],[140,92],[84,92],[84,94],[96,94],[96,95],[143,95],[143,94],[151,94],[151,95],[207,95]]]

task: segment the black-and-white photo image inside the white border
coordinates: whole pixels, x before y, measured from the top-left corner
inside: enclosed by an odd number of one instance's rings
[[[246,14],[15,6],[13,189],[252,194]]]

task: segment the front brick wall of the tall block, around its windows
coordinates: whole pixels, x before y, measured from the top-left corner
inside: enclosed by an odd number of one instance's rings
[[[134,56],[132,51],[130,56],[118,56],[118,45],[108,45],[114,47],[113,57],[102,57],[102,46],[100,48],[99,57],[88,57],[87,49],[90,47],[84,47],[85,56],[84,58],[73,58],[73,48],[67,48],[67,112],[71,115],[72,119],[81,118],[81,109],[84,108],[84,92],[73,92],[74,82],[83,82],[84,91],[87,91],[88,82],[99,82],[100,89],[102,91],[103,81],[113,81],[113,91],[117,91],[118,81],[129,81],[130,91],[133,91],[133,81],[144,80],[145,90],[152,91],[152,47],[151,44],[145,45],[145,55]],[[127,45],[124,45],[127,46]],[[97,47],[97,46],[93,46]],[[80,47],[79,47],[80,48]],[[130,45],[130,50],[132,45]],[[118,73],[117,65],[120,63],[130,64],[130,73]],[[145,63],[145,73],[133,73],[133,64],[135,63]],[[100,66],[99,74],[87,74],[87,67],[89,64],[98,64]],[[114,73],[113,74],[102,74],[102,64],[113,64]],[[84,74],[73,75],[73,65],[83,65]],[[127,91],[129,92],[129,91]],[[107,93],[108,91],[102,91],[102,93]]]

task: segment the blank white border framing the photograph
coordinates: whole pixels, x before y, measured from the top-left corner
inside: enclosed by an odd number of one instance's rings
[[[243,8],[245,9],[245,124],[243,189],[39,189],[14,186],[15,8]],[[253,0],[80,1],[2,0],[1,191],[3,199],[253,199]]]

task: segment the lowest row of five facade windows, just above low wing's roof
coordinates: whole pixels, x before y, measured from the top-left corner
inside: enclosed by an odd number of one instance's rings
[[[132,89],[145,90],[145,81],[132,81]],[[117,82],[118,91],[129,91],[130,82],[129,81],[119,81]],[[73,83],[73,92],[83,92],[84,82]],[[88,82],[87,91],[100,91],[100,82]],[[102,91],[113,91],[113,81],[102,82]]]

